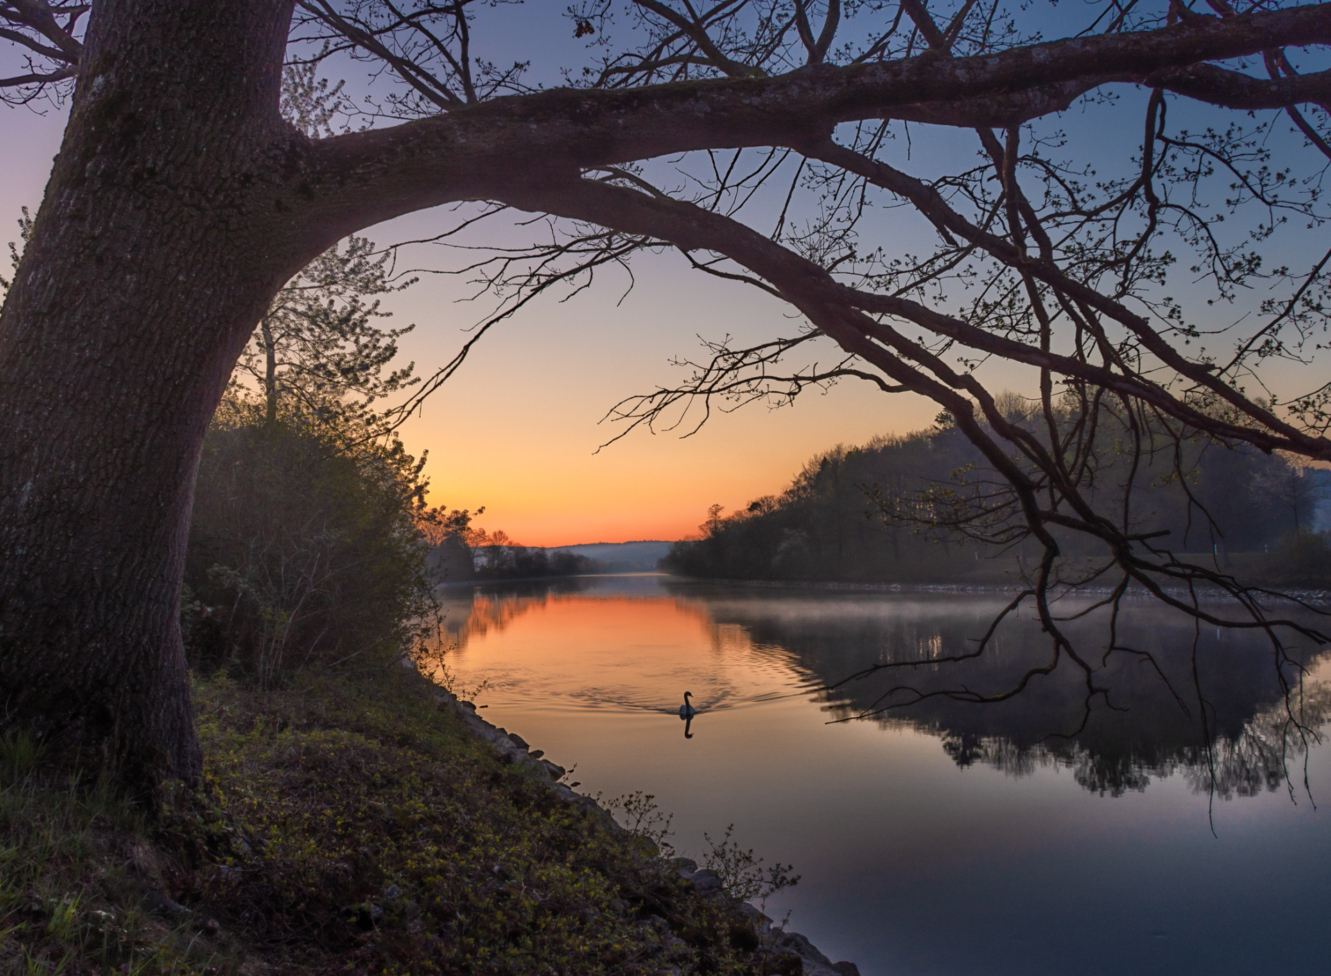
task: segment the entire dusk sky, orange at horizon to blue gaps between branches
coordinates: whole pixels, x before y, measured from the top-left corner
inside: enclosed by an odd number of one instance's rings
[[[499,64],[532,57],[531,77],[558,83],[559,65],[586,57],[564,9],[563,0],[487,9],[494,21],[476,32],[476,52]],[[1093,126],[1078,121],[1075,109],[1066,119],[1078,138],[1105,145],[1139,140],[1135,109],[1113,113],[1107,126],[1103,113]],[[16,237],[20,206],[40,202],[63,121],[57,111],[45,117],[25,109],[0,115],[0,244]],[[910,172],[928,176],[956,166],[974,145],[968,133],[933,130],[929,140],[898,149]],[[455,218],[422,212],[363,233],[389,245],[435,234]],[[874,238],[898,253],[917,250],[914,242],[926,246],[932,236],[904,210],[881,210],[872,220]],[[471,240],[514,238],[511,229],[506,234],[500,228],[495,237]],[[406,264],[433,270],[466,260],[466,253],[439,248],[405,254]],[[673,252],[635,258],[632,274],[631,289],[627,274],[611,272],[568,301],[551,296],[528,305],[487,334],[422,414],[406,423],[406,446],[430,454],[431,503],[484,506],[476,525],[503,529],[524,545],[677,539],[696,533],[709,505],[741,507],[780,491],[823,450],[918,430],[938,411],[913,394],[889,395],[845,381],[825,393],[807,391],[793,406],[756,403],[715,415],[689,438],[638,430],[598,451],[619,433],[599,422],[606,411],[624,397],[679,383],[684,373],[671,358],[697,357],[700,336],[729,334],[743,342],[797,329],[776,300],[695,272]],[[466,301],[471,290],[457,276],[425,274],[385,301],[394,313],[390,325],[417,326],[399,345],[402,360],[414,361],[418,373],[447,362],[469,338],[469,328],[484,317],[490,306]],[[832,358],[831,344],[825,350],[824,362]],[[986,369],[993,389],[1029,389],[1012,369]]]

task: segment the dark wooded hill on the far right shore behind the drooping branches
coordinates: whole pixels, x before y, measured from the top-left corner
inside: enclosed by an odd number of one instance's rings
[[[1009,422],[1044,422],[1018,394],[1000,399]],[[1147,537],[1146,551],[1154,543],[1162,561],[1167,547],[1262,582],[1331,579],[1319,531],[1331,471],[1213,439],[1178,447],[1159,434],[1147,431],[1139,457],[1125,447],[1123,426],[1097,437],[1097,501],[1125,513]],[[662,569],[711,579],[1016,585],[1040,558],[1018,521],[1002,479],[944,413],[928,430],[823,451],[780,494],[741,510],[713,505],[697,538],[677,542]],[[1107,563],[1094,539],[1055,535],[1062,582],[1087,582]]]

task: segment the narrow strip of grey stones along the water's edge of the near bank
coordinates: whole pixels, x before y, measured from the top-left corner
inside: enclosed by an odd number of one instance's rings
[[[407,663],[410,662],[403,662],[405,666]],[[411,664],[411,667],[414,670],[415,666]],[[435,702],[441,708],[454,712],[462,722],[463,727],[471,731],[476,738],[487,742],[490,747],[504,759],[511,763],[526,766],[535,772],[538,778],[547,782],[550,788],[562,800],[604,819],[616,830],[623,830],[623,827],[619,827],[619,824],[615,823],[615,819],[608,810],[598,804],[591,796],[576,792],[572,787],[563,782],[566,770],[562,766],[546,759],[544,752],[540,750],[531,748],[520,735],[486,722],[476,714],[476,706],[474,703],[465,702],[443,688],[435,690]],[[699,895],[723,899],[729,897],[721,885],[721,879],[715,871],[709,871],[707,868],[700,869],[697,863],[688,857],[672,857],[669,859],[669,863],[680,877],[693,885],[693,889]],[[752,904],[747,901],[736,901],[736,905],[752,920],[753,929],[763,945],[767,945],[773,952],[791,953],[800,959],[804,967],[804,976],[860,976],[860,969],[855,963],[844,960],[833,963],[805,936],[799,932],[789,932],[784,929],[781,925],[773,923],[772,919],[763,915],[763,912]],[[664,924],[664,921],[662,921],[662,924]],[[663,935],[669,937],[668,932]]]

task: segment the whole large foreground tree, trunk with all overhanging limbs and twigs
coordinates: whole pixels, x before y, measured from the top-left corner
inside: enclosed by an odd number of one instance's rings
[[[1331,387],[1288,405],[1247,393],[1263,362],[1298,356],[1324,318],[1328,258],[1286,266],[1262,252],[1322,220],[1307,180],[1331,156],[1331,75],[1307,52],[1331,41],[1331,7],[1093,4],[1063,27],[1000,0],[624,5],[632,16],[618,21],[610,0],[574,9],[570,31],[600,61],[538,89],[520,64],[475,57],[488,5],[467,0],[0,3],[3,37],[28,61],[0,79],[7,97],[72,88],[0,313],[5,723],[104,751],[125,782],[197,776],[180,582],[193,477],[228,377],[310,261],[361,228],[458,201],[572,221],[484,265],[506,302],[488,322],[662,246],[781,297],[805,322],[795,338],[717,348],[695,381],[626,405],[630,417],[845,377],[937,401],[1041,547],[1033,598],[1055,640],[1055,529],[1098,539],[1115,573],[1166,602],[1187,607],[1169,587],[1207,583],[1248,622],[1260,614],[1240,583],[1175,559],[1121,499],[1094,495],[1090,447],[1114,413],[1130,431],[1158,418],[1166,437],[1331,459]],[[381,115],[406,121],[325,138],[284,121],[293,11],[302,51],[349,52],[395,79]],[[1098,104],[1111,85],[1129,87],[1122,103]],[[1078,99],[1139,112],[1141,142],[1059,140],[1044,120]],[[1227,119],[1187,128],[1189,101]],[[921,180],[892,145],[905,124],[916,140],[969,129],[981,156]],[[1271,166],[1270,140],[1291,125],[1284,165]],[[644,161],[677,153],[699,154],[691,181],[654,184]],[[777,178],[789,181],[783,198],[804,202],[773,232],[769,210],[743,205]],[[861,217],[878,204],[933,228],[928,253],[864,240]],[[1169,289],[1179,254],[1197,281],[1187,305]],[[1270,302],[1218,352],[1203,338],[1215,328],[1207,298],[1256,282],[1275,289]],[[831,366],[777,365],[820,337],[839,348]],[[986,357],[1038,374],[1044,423],[1002,415],[970,369]],[[1065,425],[1057,387],[1077,405]]]

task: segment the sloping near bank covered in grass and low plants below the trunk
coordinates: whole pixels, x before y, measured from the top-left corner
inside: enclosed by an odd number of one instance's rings
[[[205,787],[152,824],[4,744],[0,971],[824,968],[414,668],[268,695],[205,680],[196,708]]]

